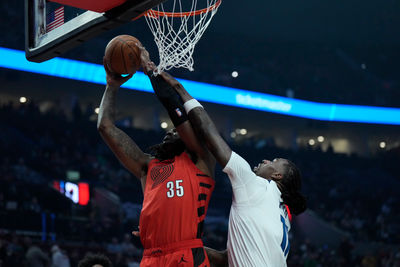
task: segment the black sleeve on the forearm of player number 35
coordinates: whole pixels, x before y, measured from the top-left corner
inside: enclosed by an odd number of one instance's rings
[[[168,112],[168,115],[175,127],[188,120],[183,107],[182,98],[175,89],[168,84],[161,75],[149,75],[154,92]]]

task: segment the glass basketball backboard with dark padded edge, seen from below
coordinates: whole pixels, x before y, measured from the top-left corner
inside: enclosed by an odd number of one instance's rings
[[[43,62],[165,0],[25,0],[25,55]]]

